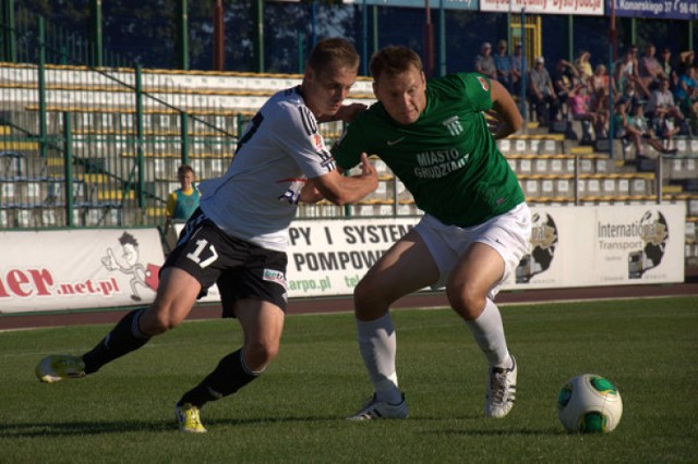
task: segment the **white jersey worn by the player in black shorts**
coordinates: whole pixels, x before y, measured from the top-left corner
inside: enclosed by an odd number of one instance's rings
[[[200,184],[201,209],[227,234],[284,252],[306,179],[334,169],[300,88],[281,90],[245,127],[226,174]]]

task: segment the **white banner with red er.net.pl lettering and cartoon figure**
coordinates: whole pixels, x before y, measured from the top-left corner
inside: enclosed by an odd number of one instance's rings
[[[0,314],[151,303],[156,229],[0,232]]]

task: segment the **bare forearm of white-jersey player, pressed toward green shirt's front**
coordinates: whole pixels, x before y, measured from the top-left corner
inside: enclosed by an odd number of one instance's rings
[[[361,155],[361,173],[345,176],[338,170],[309,180],[309,184],[316,188],[323,197],[335,205],[349,205],[357,203],[378,186],[378,173],[369,161],[366,154]],[[303,191],[310,194],[311,185]],[[301,200],[304,200],[301,196]]]

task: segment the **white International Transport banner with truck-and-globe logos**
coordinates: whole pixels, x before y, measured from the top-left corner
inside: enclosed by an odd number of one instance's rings
[[[529,254],[504,289],[684,281],[685,205],[531,208]]]

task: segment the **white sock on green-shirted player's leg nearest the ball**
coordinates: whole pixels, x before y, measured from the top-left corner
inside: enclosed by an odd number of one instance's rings
[[[482,314],[474,320],[467,320],[466,323],[491,367],[512,367],[502,315],[492,300],[486,298]]]

